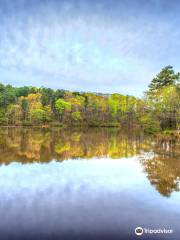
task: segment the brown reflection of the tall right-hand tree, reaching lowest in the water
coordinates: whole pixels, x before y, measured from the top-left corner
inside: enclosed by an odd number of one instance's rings
[[[157,139],[154,156],[143,158],[142,164],[151,184],[159,193],[169,197],[179,191],[180,142],[178,139]]]

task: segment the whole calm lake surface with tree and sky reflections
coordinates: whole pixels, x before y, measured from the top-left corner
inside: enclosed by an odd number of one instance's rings
[[[180,142],[0,129],[0,239],[180,239]],[[167,228],[173,234],[134,229]]]

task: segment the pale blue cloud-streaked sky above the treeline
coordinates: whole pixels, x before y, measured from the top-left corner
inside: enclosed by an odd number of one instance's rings
[[[180,70],[180,1],[0,0],[0,81],[142,96]]]

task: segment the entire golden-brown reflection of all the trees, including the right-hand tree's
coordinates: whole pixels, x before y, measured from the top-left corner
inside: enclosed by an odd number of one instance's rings
[[[179,190],[179,146],[177,139],[164,140],[114,129],[0,129],[1,164],[139,156],[151,184],[164,196]]]

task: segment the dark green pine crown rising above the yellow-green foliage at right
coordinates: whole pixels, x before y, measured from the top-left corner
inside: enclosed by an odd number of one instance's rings
[[[172,66],[166,66],[160,73],[152,80],[149,85],[149,91],[153,92],[164,86],[171,86],[178,83],[180,80],[180,73],[175,73]]]

